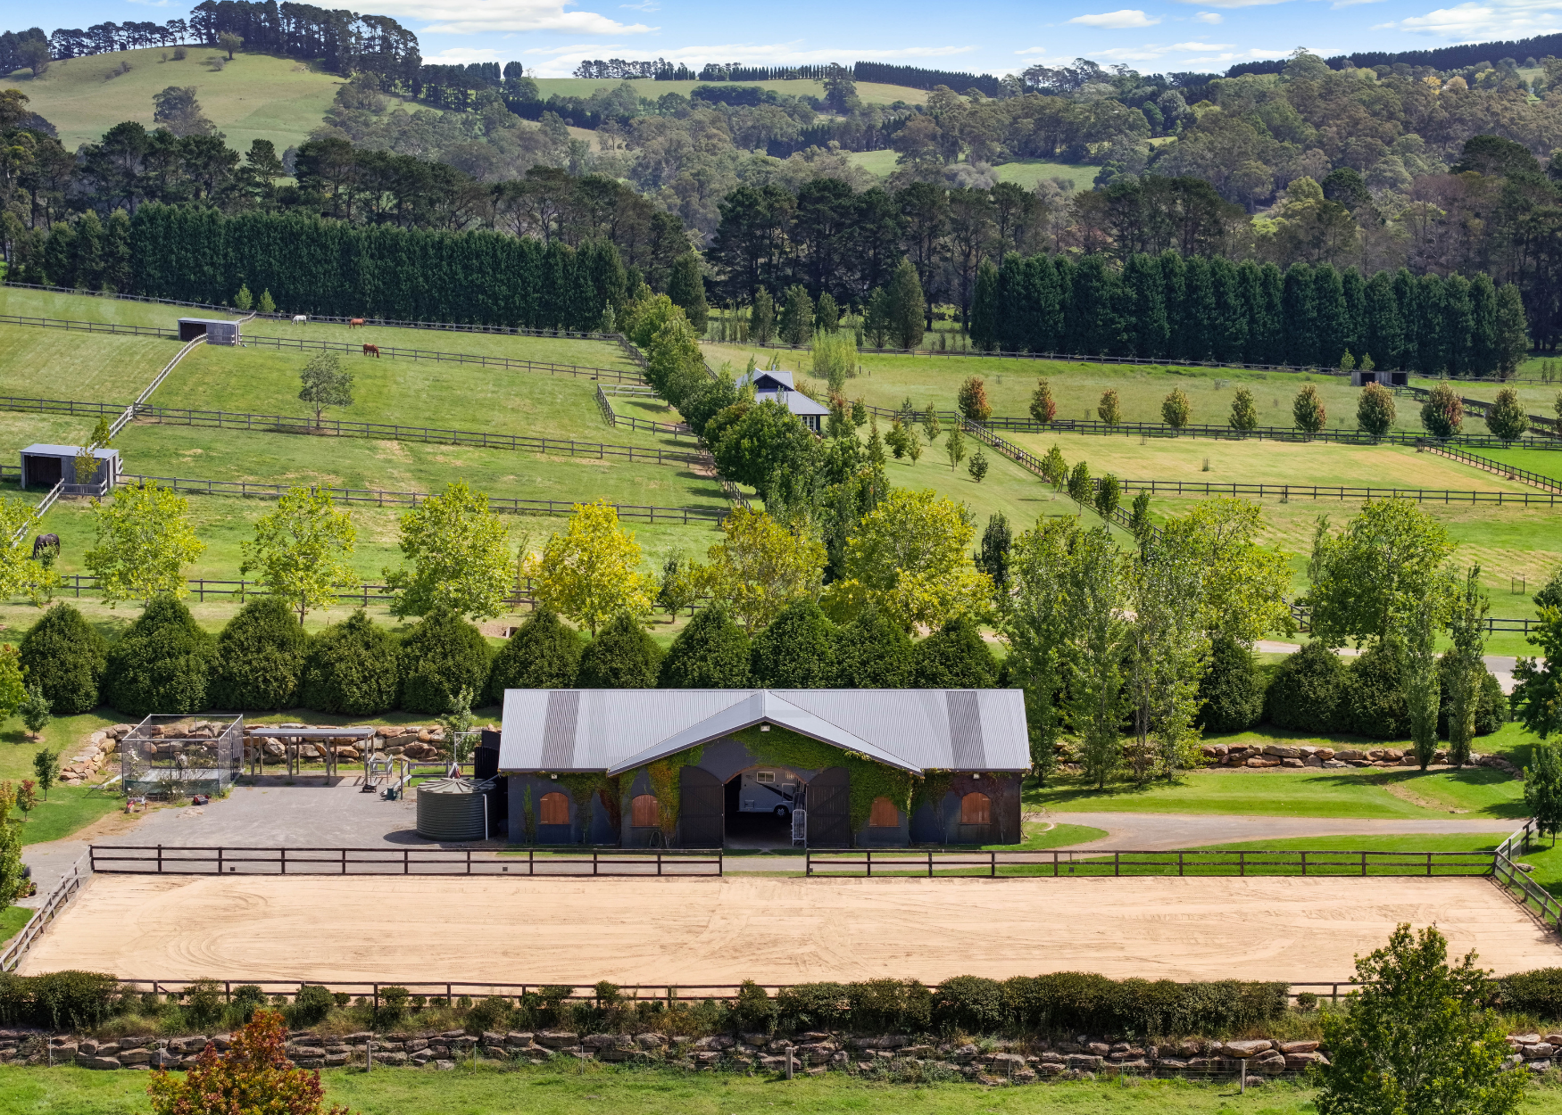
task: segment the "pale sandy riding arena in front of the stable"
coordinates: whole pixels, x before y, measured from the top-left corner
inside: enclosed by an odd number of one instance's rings
[[[1482,879],[95,876],[23,971],[728,984],[1087,970],[1345,979],[1396,921],[1498,973],[1562,949]]]

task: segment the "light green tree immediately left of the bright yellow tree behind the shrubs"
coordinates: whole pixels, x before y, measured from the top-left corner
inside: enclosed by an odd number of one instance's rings
[[[448,607],[456,615],[494,618],[505,611],[514,568],[505,525],[487,509],[487,497],[465,481],[447,484],[400,518],[401,554],[411,562],[384,570],[395,593],[390,614],[428,615]]]

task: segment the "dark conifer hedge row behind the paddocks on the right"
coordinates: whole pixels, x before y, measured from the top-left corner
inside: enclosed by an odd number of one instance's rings
[[[1275,264],[1176,251],[1129,256],[1009,253],[984,264],[972,340],[1009,351],[1103,353],[1153,359],[1376,367],[1421,375],[1510,373],[1529,350],[1523,303],[1490,276],[1364,278],[1329,264]]]

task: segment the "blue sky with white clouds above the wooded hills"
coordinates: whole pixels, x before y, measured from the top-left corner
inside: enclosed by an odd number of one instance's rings
[[[1122,0],[1118,0],[1122,2]],[[1356,50],[1426,50],[1562,31],[1562,0],[1167,0],[1140,8],[1061,0],[359,0],[361,12],[414,30],[430,62],[519,61],[569,77],[583,58],[665,58],[786,66],[886,61],[975,73],[1090,58],[1154,73],[1223,72],[1234,62]],[[334,6],[334,5],[323,5]],[[5,27],[19,30],[23,9]],[[37,9],[31,9],[37,11]],[[55,27],[184,17],[187,0],[80,0],[48,8]],[[11,27],[17,23],[17,27]],[[1492,61],[1496,61],[1495,58]],[[1523,61],[1523,59],[1520,59]]]

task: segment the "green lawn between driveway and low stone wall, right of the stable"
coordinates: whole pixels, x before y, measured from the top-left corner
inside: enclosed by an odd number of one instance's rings
[[[1479,746],[1479,745],[1478,745]],[[1482,748],[1484,750],[1484,748]],[[1381,820],[1475,818],[1521,820],[1529,815],[1523,782],[1487,767],[1420,771],[1350,770],[1196,770],[1176,782],[1136,787],[1109,782],[1104,790],[1076,778],[1045,789],[1028,787],[1025,806],[1067,812],[1223,814],[1246,817],[1357,817]]]

